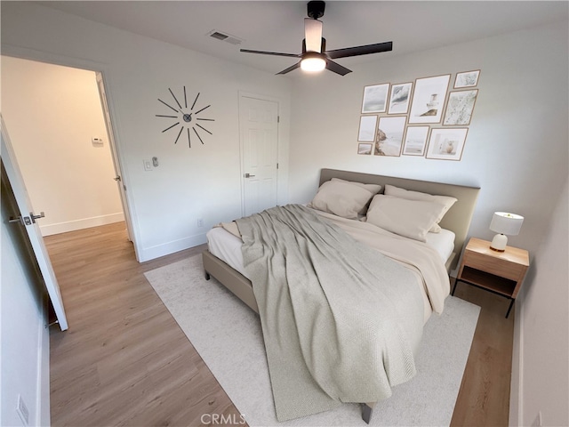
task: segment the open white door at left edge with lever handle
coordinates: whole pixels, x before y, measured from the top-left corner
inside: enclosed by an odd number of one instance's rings
[[[65,315],[65,309],[63,307],[63,299],[61,298],[60,286],[55,278],[55,273],[53,272],[52,262],[50,262],[49,255],[47,254],[47,249],[45,249],[44,238],[39,230],[36,220],[40,217],[34,213],[31,203],[29,202],[28,191],[24,186],[24,180],[20,173],[20,167],[16,161],[16,156],[12,149],[12,142],[6,131],[6,125],[4,125],[4,117],[0,115],[0,122],[2,125],[2,163],[4,164],[4,169],[8,175],[8,180],[12,185],[12,191],[14,197],[16,198],[16,204],[20,210],[20,223],[26,229],[28,233],[28,238],[31,243],[34,254],[36,255],[36,260],[39,265],[39,269],[44,277],[45,287],[47,288],[47,293],[52,301],[52,307],[57,316],[57,320],[60,324],[62,331],[68,328],[68,319]],[[42,213],[43,214],[43,213]],[[19,225],[14,223],[14,227]]]

